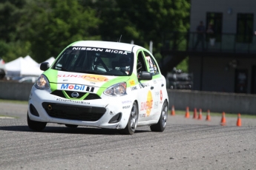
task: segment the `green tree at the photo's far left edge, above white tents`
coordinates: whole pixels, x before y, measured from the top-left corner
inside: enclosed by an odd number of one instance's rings
[[[0,57],[11,61],[26,54],[27,43],[21,43],[22,16],[26,0],[1,0],[0,2]]]

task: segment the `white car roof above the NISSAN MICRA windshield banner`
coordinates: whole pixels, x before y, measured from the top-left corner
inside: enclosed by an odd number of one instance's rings
[[[99,47],[99,48],[109,48],[115,50],[125,50],[132,51],[133,47],[139,47],[135,44],[127,44],[122,42],[112,42],[112,41],[76,41],[70,44],[73,47]],[[142,47],[141,47],[142,48]]]

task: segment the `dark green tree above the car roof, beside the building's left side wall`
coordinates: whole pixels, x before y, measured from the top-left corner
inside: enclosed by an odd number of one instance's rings
[[[92,2],[92,1],[91,1]],[[102,23],[102,39],[122,41],[148,47],[154,42],[154,55],[160,58],[165,38],[174,31],[186,32],[189,28],[188,0],[118,0],[93,1]]]

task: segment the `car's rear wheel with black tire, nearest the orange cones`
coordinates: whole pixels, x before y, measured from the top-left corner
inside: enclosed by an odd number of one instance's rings
[[[165,126],[167,123],[167,118],[168,118],[168,103],[167,103],[167,101],[165,101],[163,103],[163,108],[162,108],[158,123],[150,126],[151,131],[152,132],[163,132],[165,130]]]

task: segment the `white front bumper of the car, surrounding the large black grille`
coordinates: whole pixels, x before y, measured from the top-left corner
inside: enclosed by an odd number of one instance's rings
[[[113,98],[105,95],[87,101],[73,101],[33,86],[28,102],[28,115],[31,120],[47,123],[124,129],[130,109],[124,109],[121,101],[127,98],[128,96]]]

